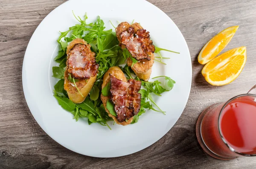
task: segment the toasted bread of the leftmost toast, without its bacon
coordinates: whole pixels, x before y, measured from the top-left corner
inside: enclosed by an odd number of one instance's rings
[[[67,54],[70,52],[70,50],[73,48],[75,44],[84,44],[90,49],[90,44],[87,44],[87,42],[83,39],[75,39],[73,40],[68,46],[67,46]],[[73,103],[82,103],[87,95],[89,94],[90,90],[93,87],[94,82],[96,81],[97,75],[94,77],[90,77],[89,79],[79,79],[79,81],[75,82],[77,88],[81,92],[83,96],[78,92],[76,89],[76,86],[74,85],[73,81],[70,82],[68,80],[69,73],[67,71],[67,68],[64,73],[64,89],[67,91],[67,95]]]

